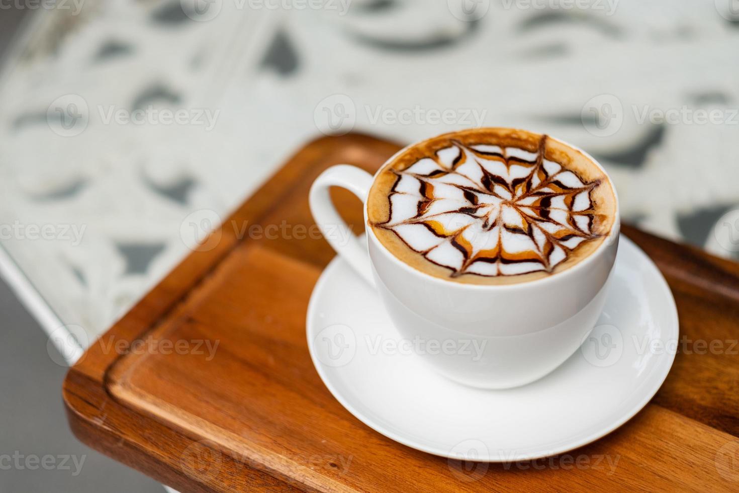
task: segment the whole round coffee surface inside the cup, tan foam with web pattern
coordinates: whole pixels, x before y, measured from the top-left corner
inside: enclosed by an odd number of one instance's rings
[[[605,172],[547,135],[471,129],[404,149],[378,173],[369,225],[401,261],[441,279],[525,282],[592,254],[616,221]]]

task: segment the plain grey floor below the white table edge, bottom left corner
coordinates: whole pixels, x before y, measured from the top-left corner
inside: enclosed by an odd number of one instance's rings
[[[0,317],[0,492],[163,492],[72,435],[61,400],[67,367],[4,282]]]

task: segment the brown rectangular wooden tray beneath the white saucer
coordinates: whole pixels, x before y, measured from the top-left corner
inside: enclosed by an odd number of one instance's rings
[[[374,171],[397,149],[346,135],[300,150],[69,370],[64,402],[75,435],[183,492],[738,491],[739,265],[634,228],[624,233],[675,294],[680,352],[644,410],[571,452],[587,456],[585,466],[438,458],[385,438],[338,404],[305,340],[310,292],[333,257],[316,235],[307,192],[327,166]],[[348,192],[335,199],[361,231],[358,201]],[[218,344],[214,357],[202,341]],[[596,464],[605,455],[618,460],[615,471]]]

